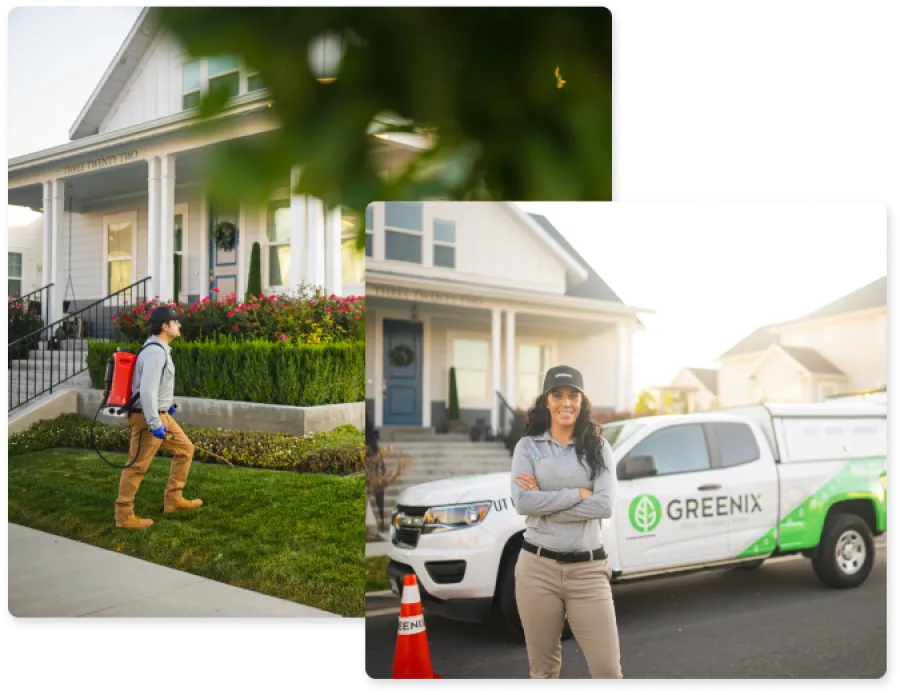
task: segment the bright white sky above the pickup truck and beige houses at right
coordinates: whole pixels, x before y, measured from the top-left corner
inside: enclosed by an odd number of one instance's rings
[[[671,383],[760,326],[799,318],[887,274],[887,208],[875,200],[528,203],[646,329],[635,390]]]

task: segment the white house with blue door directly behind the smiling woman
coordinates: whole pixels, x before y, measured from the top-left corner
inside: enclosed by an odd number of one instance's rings
[[[366,215],[366,405],[376,427],[460,419],[493,432],[528,408],[554,364],[577,367],[595,409],[632,406],[628,306],[541,215],[511,203],[387,202]]]

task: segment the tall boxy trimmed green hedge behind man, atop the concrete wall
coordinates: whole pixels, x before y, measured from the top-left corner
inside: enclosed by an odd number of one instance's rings
[[[104,388],[106,363],[118,347],[142,343],[90,342],[91,385]],[[263,340],[176,340],[175,396],[292,406],[365,400],[365,343],[286,345]]]

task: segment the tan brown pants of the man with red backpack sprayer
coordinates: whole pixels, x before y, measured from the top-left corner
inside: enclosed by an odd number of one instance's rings
[[[160,447],[174,454],[163,503],[172,504],[181,500],[181,491],[184,489],[188,471],[191,469],[194,445],[170,415],[160,413],[159,417],[166,426],[166,434],[174,435],[172,439],[163,441],[154,437],[149,430],[141,432],[147,427],[147,420],[144,419],[143,413],[132,413],[128,418],[128,424],[131,425],[129,461],[137,452],[138,442],[141,445],[141,452],[133,465],[122,469],[122,476],[119,479],[119,497],[116,499],[116,521],[125,521],[134,514],[135,495],[144,479],[144,474],[150,467],[150,461],[156,456]]]

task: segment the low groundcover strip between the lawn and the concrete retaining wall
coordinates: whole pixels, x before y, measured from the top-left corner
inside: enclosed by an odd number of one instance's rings
[[[92,449],[91,422],[74,413],[36,422],[25,432],[9,438],[8,456],[57,447]],[[331,475],[365,471],[365,439],[363,433],[352,425],[342,425],[330,432],[316,432],[304,437],[279,432],[242,432],[190,425],[181,425],[181,428],[195,446],[222,456],[235,466]],[[130,441],[131,428],[127,425],[105,425],[98,422],[94,428],[94,442],[104,455],[106,452],[127,454]],[[170,457],[171,454],[160,448],[159,456]],[[220,459],[200,449],[194,451],[194,460],[225,465]],[[112,458],[110,461],[124,463],[124,460]]]

